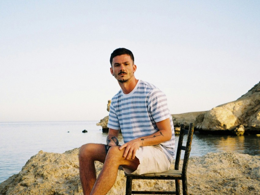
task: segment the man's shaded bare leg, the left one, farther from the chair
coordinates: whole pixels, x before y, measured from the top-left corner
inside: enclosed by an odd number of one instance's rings
[[[106,151],[104,144],[85,144],[80,147],[80,181],[84,195],[89,195],[96,182],[94,161],[104,163]]]

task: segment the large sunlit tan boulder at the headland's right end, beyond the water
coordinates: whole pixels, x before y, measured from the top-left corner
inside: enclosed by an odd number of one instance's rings
[[[243,127],[242,127],[242,126]],[[260,82],[236,101],[219,105],[204,114],[196,128],[203,131],[260,132]]]

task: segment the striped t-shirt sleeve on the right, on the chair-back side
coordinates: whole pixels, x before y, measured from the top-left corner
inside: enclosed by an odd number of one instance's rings
[[[148,110],[156,123],[170,118],[167,97],[161,90],[152,90],[148,100]]]

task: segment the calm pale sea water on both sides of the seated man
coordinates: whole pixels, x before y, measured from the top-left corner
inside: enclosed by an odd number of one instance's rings
[[[64,153],[85,143],[106,143],[98,121],[0,123],[0,183],[19,173],[27,160],[40,150]],[[83,130],[87,133],[82,133]],[[120,137],[120,144],[122,138]],[[176,145],[178,136],[176,136]],[[195,133],[191,156],[232,151],[260,155],[260,137],[217,136]]]

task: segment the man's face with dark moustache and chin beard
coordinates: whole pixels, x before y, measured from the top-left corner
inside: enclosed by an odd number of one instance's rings
[[[133,64],[131,57],[127,54],[116,56],[113,58],[110,72],[120,83],[125,83],[134,78],[136,65]]]

